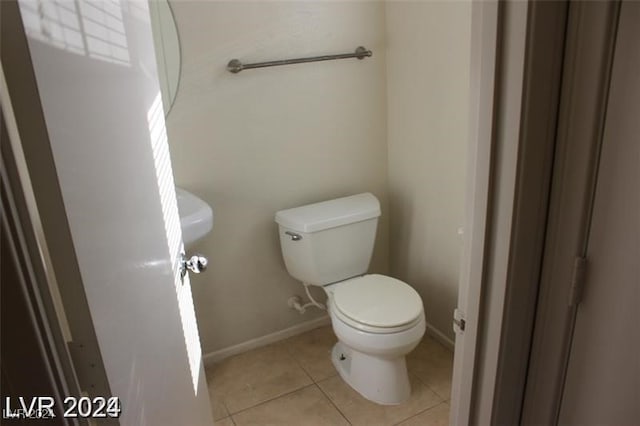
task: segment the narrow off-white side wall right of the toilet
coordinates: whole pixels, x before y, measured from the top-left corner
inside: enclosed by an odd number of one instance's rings
[[[470,2],[388,2],[391,274],[453,339],[469,112]]]

